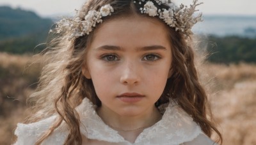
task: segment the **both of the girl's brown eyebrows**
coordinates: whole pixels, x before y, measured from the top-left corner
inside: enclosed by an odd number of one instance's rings
[[[123,49],[120,46],[113,46],[113,45],[103,45],[96,50],[101,51],[107,51],[107,50],[113,50],[113,51],[122,51]],[[144,46],[141,48],[136,48],[137,52],[143,52],[143,51],[150,51],[150,50],[167,50],[164,46],[161,45],[152,45],[152,46]]]

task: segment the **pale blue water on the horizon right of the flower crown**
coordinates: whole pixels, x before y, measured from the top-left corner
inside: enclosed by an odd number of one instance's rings
[[[256,37],[256,16],[205,16],[204,21],[195,25],[196,34],[216,36]]]

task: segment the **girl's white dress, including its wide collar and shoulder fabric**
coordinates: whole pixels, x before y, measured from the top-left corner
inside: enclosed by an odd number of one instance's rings
[[[81,119],[81,133],[91,141],[103,142],[102,144],[143,145],[143,144],[216,144],[202,132],[193,119],[178,105],[173,102],[168,104],[163,118],[152,127],[145,128],[136,138],[134,143],[125,141],[124,137],[116,130],[106,125],[95,111],[95,106],[88,99],[77,106]],[[40,137],[51,127],[56,116],[51,116],[36,123],[18,123],[15,135],[18,139],[15,144],[35,144]],[[42,144],[63,144],[68,135],[67,126],[62,123]],[[105,143],[104,143],[105,142]]]

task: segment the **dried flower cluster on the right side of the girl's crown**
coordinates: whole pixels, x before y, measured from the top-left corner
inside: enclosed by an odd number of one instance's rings
[[[193,34],[191,31],[193,25],[197,22],[202,21],[202,13],[199,13],[197,16],[193,16],[196,10],[196,6],[202,4],[198,3],[198,0],[193,0],[193,4],[188,6],[184,6],[184,4],[180,4],[179,7],[175,6],[173,3],[169,3],[168,0],[154,0],[157,4],[167,4],[170,6],[168,10],[159,9],[154,5],[152,1],[147,1],[144,4],[143,8],[140,8],[141,13],[147,13],[151,17],[159,16],[167,25],[175,28],[175,31],[179,31],[180,34],[184,35],[186,38],[189,37],[190,34]]]

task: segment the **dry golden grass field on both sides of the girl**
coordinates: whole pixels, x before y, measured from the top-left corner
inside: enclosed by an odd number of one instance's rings
[[[37,60],[0,53],[0,144],[15,141],[16,124],[29,114],[26,97],[35,89],[40,65],[28,64]],[[205,63],[198,69],[223,145],[256,145],[256,65]]]

